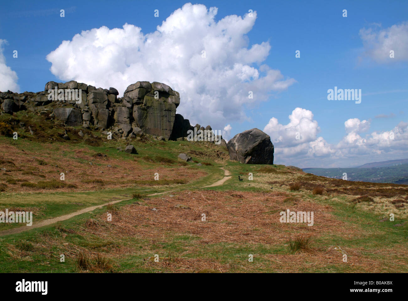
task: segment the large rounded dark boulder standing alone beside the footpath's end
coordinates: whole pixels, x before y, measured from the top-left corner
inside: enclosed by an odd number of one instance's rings
[[[227,143],[231,160],[244,164],[273,164],[271,137],[257,128],[235,135]]]

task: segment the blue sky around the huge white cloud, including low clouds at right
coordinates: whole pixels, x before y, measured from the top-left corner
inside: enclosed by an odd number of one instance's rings
[[[76,75],[76,78],[75,76],[68,78],[70,75],[63,74],[62,67],[56,68],[58,70],[53,74],[50,71],[51,65],[58,65],[64,57],[56,54],[52,63],[46,57],[57,49],[63,40],[72,41],[74,35],[102,26],[108,29],[122,29],[123,25],[128,23],[140,27],[144,35],[153,33],[157,31],[157,26],[162,25],[171,13],[182,8],[185,3],[185,1],[2,3],[0,39],[7,40],[7,44],[2,45],[5,64],[16,72],[20,92],[41,91],[44,89],[44,84],[50,80],[65,82],[71,79],[77,80],[78,77],[91,78],[91,75],[87,77],[86,74],[83,75],[84,77]],[[195,113],[198,110],[197,106],[203,103],[203,100],[197,100],[200,89],[185,91],[184,94],[181,93],[181,104],[177,110],[185,118],[189,118],[192,124],[198,122],[206,126],[204,123],[209,121],[212,126],[215,124],[213,128],[221,129],[229,124],[230,126],[224,130],[226,130],[225,136],[231,138],[250,128],[257,127],[266,131],[265,126],[271,118],[276,118],[278,124],[282,126],[271,126],[270,131],[266,132],[271,135],[275,145],[277,164],[300,167],[347,167],[408,157],[408,140],[404,124],[408,122],[406,105],[408,45],[405,44],[407,40],[404,40],[406,39],[404,22],[408,21],[407,1],[200,1],[197,3],[204,4],[206,9],[217,7],[217,13],[213,18],[215,22],[229,15],[244,18],[249,9],[256,11],[256,20],[248,33],[243,35],[248,40],[247,48],[263,42],[268,42],[271,48],[262,62],[243,62],[243,64],[257,69],[261,77],[265,73],[260,65],[266,64],[270,69],[280,71],[282,74],[280,80],[291,79],[293,82],[288,83],[284,89],[271,89],[271,91],[259,87],[260,91],[268,93],[269,97],[258,93],[263,95],[262,99],[255,97],[254,102],[237,100],[239,109],[233,109],[232,105],[228,107],[221,104],[228,103],[229,99],[214,101],[215,105],[220,106],[221,113],[210,114],[213,117],[205,115],[206,109],[202,110],[204,113]],[[60,9],[65,9],[64,18],[60,17]],[[155,9],[159,10],[158,18],[154,17]],[[346,18],[342,17],[343,9],[347,9]],[[394,59],[383,60],[378,57],[378,52],[370,53],[370,49],[381,47],[379,38],[381,31],[389,35],[394,34],[394,31],[390,31],[392,26],[397,26],[396,36],[388,40],[387,46],[390,41],[391,46],[398,41],[403,41],[403,45],[395,44],[398,53],[395,53]],[[364,41],[364,37],[367,38],[368,35],[362,35],[361,29],[371,29],[377,34],[375,42]],[[228,30],[233,31],[232,28]],[[402,35],[402,39],[399,35]],[[18,51],[18,58],[13,58],[13,50]],[[295,58],[297,50],[300,51],[300,58]],[[95,62],[89,63],[95,64]],[[166,75],[165,78],[170,77]],[[128,84],[132,84],[137,80],[145,79],[133,77],[129,80],[131,82]],[[98,83],[98,79],[95,81]],[[167,84],[170,86],[180,85],[174,80],[169,81]],[[248,81],[251,82],[251,79]],[[106,81],[101,79],[100,82],[104,84]],[[211,85],[214,83],[212,82]],[[361,89],[361,103],[327,100],[327,90],[334,89],[334,86],[339,89]],[[102,87],[109,88],[109,86]],[[226,88],[220,86],[219,89],[221,91]],[[183,95],[185,95],[185,102],[183,102]],[[228,97],[225,98],[231,97],[231,92],[226,95]],[[206,97],[209,97],[211,102],[211,94]],[[187,102],[191,102],[191,106],[187,106]],[[300,115],[298,115],[301,118],[308,118],[309,122],[304,122],[303,125],[301,122],[299,125],[288,125],[290,122],[288,116],[295,108],[304,109],[304,111],[299,110]],[[228,110],[231,112],[227,112]],[[313,117],[306,111],[311,111]],[[378,117],[379,115],[388,115],[388,117]],[[350,119],[358,119],[358,121],[354,120],[347,131],[345,122]],[[365,126],[364,131],[360,131],[361,128],[358,129],[358,125],[364,120],[369,127]],[[316,122],[319,127],[317,133],[313,132],[316,131]],[[395,129],[398,125],[399,127]],[[315,126],[314,129],[313,126]],[[313,133],[306,135],[310,127]],[[299,141],[292,141],[289,137],[293,136],[294,131],[302,133],[305,131],[305,136],[308,138],[302,138],[301,144]],[[380,133],[390,131],[397,134],[397,139],[391,144],[388,143],[389,141],[382,141],[384,137],[379,137]],[[348,135],[350,133],[353,133],[353,137]],[[346,135],[348,135],[347,138]],[[324,139],[321,145],[316,142],[318,137]]]

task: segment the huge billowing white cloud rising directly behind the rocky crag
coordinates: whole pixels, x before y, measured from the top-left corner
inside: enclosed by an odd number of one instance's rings
[[[82,31],[63,41],[47,60],[61,80],[112,86],[120,95],[140,80],[163,82],[180,92],[177,113],[192,124],[222,129],[231,120],[248,120],[246,104],[267,100],[295,80],[269,66],[256,67],[271,49],[269,42],[249,45],[246,34],[256,12],[218,22],[216,14],[216,7],[187,3],[152,33],[127,23],[122,29]]]

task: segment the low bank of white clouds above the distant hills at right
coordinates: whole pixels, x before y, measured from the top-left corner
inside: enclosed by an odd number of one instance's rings
[[[372,132],[370,120],[350,118],[344,122],[346,135],[330,144],[318,137],[319,126],[313,113],[295,108],[288,124],[272,117],[264,128],[275,146],[275,163],[305,167],[349,167],[368,162],[408,156],[408,123],[400,122],[390,131]]]

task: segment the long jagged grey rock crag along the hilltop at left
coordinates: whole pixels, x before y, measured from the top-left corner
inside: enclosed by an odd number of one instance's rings
[[[48,119],[67,126],[100,129],[116,137],[174,141],[225,141],[211,126],[206,128],[176,114],[180,94],[160,82],[136,82],[127,87],[123,97],[113,87],[109,89],[75,82],[47,82],[44,91],[33,93],[0,92],[0,114],[22,110],[51,113]],[[201,130],[201,131],[198,131]],[[189,131],[193,131],[191,134]],[[198,131],[198,133],[197,133]],[[187,139],[187,137],[190,137]],[[220,143],[216,143],[220,145]]]

